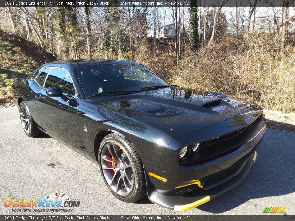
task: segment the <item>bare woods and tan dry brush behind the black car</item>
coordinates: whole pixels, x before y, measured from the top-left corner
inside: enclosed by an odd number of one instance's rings
[[[259,0],[249,3],[250,7],[224,7],[222,2],[198,7],[194,1],[191,7],[2,7],[0,29],[57,60],[135,60],[172,84],[294,112],[295,7],[288,1],[282,1],[282,7],[261,7]],[[168,26],[173,29],[170,36]],[[3,82],[2,87],[11,84]]]

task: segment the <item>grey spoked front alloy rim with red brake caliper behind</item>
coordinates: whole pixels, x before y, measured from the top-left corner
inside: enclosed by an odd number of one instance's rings
[[[112,191],[120,196],[129,195],[134,185],[134,173],[127,151],[109,142],[102,149],[100,162],[104,178]]]

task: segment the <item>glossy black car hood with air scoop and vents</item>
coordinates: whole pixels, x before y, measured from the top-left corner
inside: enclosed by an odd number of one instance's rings
[[[227,95],[178,86],[107,99],[97,97],[96,101],[112,111],[123,113],[124,109],[129,116],[148,119],[179,135],[227,120],[256,106]]]

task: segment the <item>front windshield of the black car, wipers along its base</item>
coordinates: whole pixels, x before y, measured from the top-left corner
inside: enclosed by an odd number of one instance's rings
[[[140,64],[112,64],[77,68],[81,86],[87,97],[116,91],[140,91],[156,86],[169,87],[162,78]],[[111,93],[110,93],[111,94]]]

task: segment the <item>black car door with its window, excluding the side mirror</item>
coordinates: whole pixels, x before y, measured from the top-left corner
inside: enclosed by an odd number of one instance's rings
[[[68,70],[64,68],[45,68],[35,78],[40,90],[36,96],[36,107],[44,130],[58,140],[73,147],[80,140],[78,133],[77,111],[79,97]],[[69,99],[49,97],[46,90],[61,87]]]

